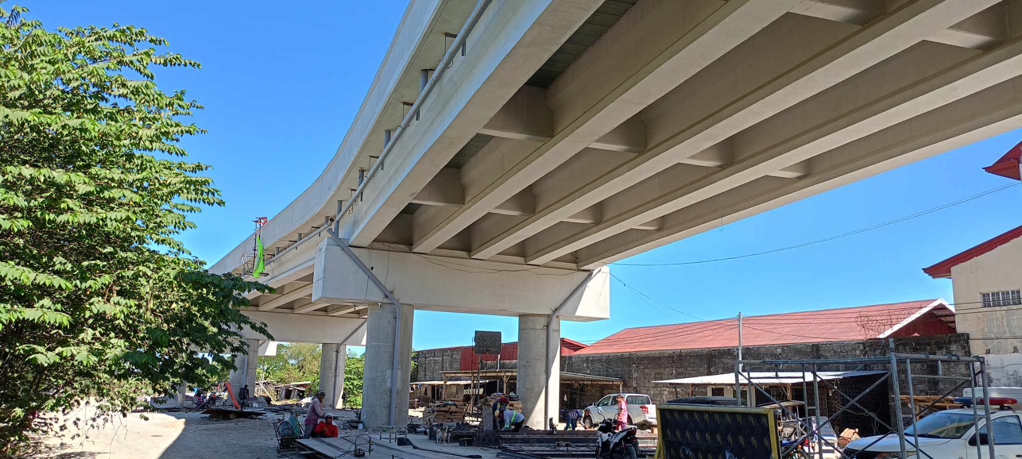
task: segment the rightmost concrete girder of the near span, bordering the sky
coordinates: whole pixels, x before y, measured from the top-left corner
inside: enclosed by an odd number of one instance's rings
[[[885,170],[1022,126],[1022,76],[1016,76],[815,157],[799,181],[761,177],[663,217],[656,232],[624,232],[576,252],[584,268],[602,266]]]

